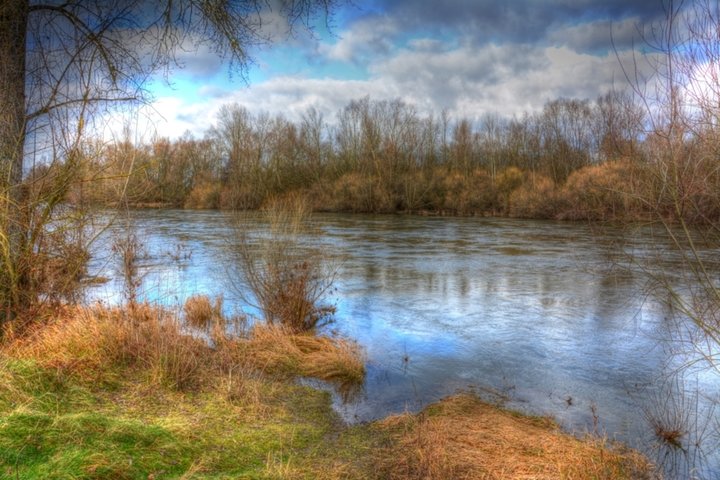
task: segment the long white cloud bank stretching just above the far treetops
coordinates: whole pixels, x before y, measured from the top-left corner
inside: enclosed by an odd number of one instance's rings
[[[621,60],[630,63],[630,52]],[[201,87],[199,102],[158,99],[153,107],[159,135],[177,137],[186,130],[200,136],[216,121],[222,105],[237,102],[250,112],[281,114],[299,120],[314,107],[332,121],[351,100],[400,98],[421,113],[454,116],[503,116],[540,110],[559,97],[595,98],[625,80],[614,53],[593,56],[568,47],[487,45],[452,51],[401,50],[373,67],[368,80],[276,77],[225,91]],[[158,115],[159,114],[159,115]],[[162,118],[160,117],[162,116]],[[149,129],[147,129],[149,131]]]

